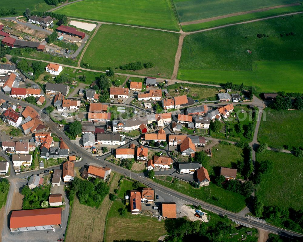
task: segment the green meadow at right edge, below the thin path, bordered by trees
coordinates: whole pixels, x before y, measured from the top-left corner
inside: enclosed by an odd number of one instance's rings
[[[292,154],[266,151],[263,154],[256,153],[256,160],[259,162],[271,160],[274,164],[272,172],[262,176],[260,187],[257,189],[257,195],[262,197],[264,205],[301,209],[302,158]]]

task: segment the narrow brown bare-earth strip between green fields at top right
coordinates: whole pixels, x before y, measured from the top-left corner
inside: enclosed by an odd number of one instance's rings
[[[180,24],[182,26],[191,25],[191,24],[200,24],[200,23],[205,23],[205,22],[218,20],[218,19],[221,19],[221,18],[228,18],[228,17],[244,15],[244,14],[249,14],[249,13],[264,12],[264,11],[268,11],[268,10],[275,9],[275,8],[284,8],[284,7],[291,7],[291,6],[296,6],[296,5],[300,5],[300,3],[297,2],[297,3],[278,5],[278,6],[268,7],[268,8],[260,8],[260,9],[255,9],[255,10],[251,10],[251,11],[246,11],[246,12],[231,13],[231,14],[221,15],[221,16],[217,16],[217,17],[213,17],[213,18],[205,18],[205,19],[199,19],[199,20],[190,21],[190,22],[183,22],[183,23],[180,23]]]

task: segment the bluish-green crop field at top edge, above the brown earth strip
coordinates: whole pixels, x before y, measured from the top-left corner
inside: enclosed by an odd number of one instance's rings
[[[222,16],[231,13],[245,12],[254,9],[291,4],[297,0],[225,0],[225,1],[199,1],[199,0],[173,0],[180,22]]]

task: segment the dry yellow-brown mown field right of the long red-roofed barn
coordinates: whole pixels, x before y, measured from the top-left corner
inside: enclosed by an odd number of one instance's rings
[[[115,174],[112,178],[109,188],[110,193],[113,193],[117,187],[119,178],[118,174]],[[80,204],[75,197],[65,241],[103,241],[106,216],[110,206],[111,201],[108,195],[104,198],[98,209]]]

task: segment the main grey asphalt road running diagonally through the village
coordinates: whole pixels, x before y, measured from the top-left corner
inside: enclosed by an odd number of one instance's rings
[[[96,163],[96,164],[100,164],[102,166],[106,165],[107,167],[110,167],[115,172],[118,172],[120,174],[125,174],[127,176],[130,175],[130,176],[132,176],[133,179],[135,179],[137,181],[140,181],[140,182],[142,182],[143,184],[145,184],[149,187],[154,187],[156,190],[160,191],[161,193],[171,195],[171,196],[175,197],[178,200],[182,200],[185,203],[200,204],[203,208],[205,208],[208,211],[211,211],[211,212],[214,212],[214,213],[217,213],[217,214],[221,214],[221,215],[226,214],[229,218],[231,218],[233,220],[238,220],[238,221],[240,221],[242,223],[245,223],[245,224],[248,224],[252,227],[261,228],[261,229],[267,230],[267,231],[269,231],[271,233],[274,233],[274,234],[280,234],[280,235],[286,236],[286,237],[303,237],[303,234],[299,234],[299,233],[296,233],[296,232],[293,232],[293,231],[289,231],[289,230],[285,230],[285,229],[282,229],[282,228],[274,227],[274,226],[271,226],[269,224],[261,224],[261,223],[252,221],[252,220],[250,220],[246,217],[243,217],[239,214],[232,213],[232,212],[227,211],[223,208],[217,207],[217,206],[212,205],[212,204],[208,204],[204,201],[195,199],[193,197],[189,197],[185,194],[181,194],[177,191],[174,191],[174,190],[171,190],[167,187],[159,185],[159,184],[157,184],[157,183],[155,183],[155,182],[153,182],[153,181],[151,181],[151,180],[149,180],[145,177],[139,176],[139,174],[137,174],[137,173],[126,170],[122,167],[118,167],[118,166],[116,166],[116,165],[114,165],[114,164],[112,164],[108,161],[105,161],[104,158],[107,157],[110,153],[105,154],[105,155],[103,155],[101,157],[98,157],[98,158],[92,157],[91,154],[89,154],[85,150],[79,149],[79,146],[72,143],[72,141],[70,141],[67,138],[67,136],[58,128],[58,125],[55,124],[52,120],[50,120],[50,118],[42,110],[40,110],[37,106],[29,104],[29,103],[24,102],[24,101],[19,101],[19,100],[17,101],[16,99],[13,99],[13,98],[10,98],[10,97],[6,96],[3,92],[0,92],[0,98],[5,98],[6,100],[11,101],[12,103],[19,102],[21,105],[26,105],[26,106],[29,105],[32,108],[34,108],[41,115],[42,121],[44,121],[45,124],[49,126],[50,130],[53,133],[55,133],[57,136],[62,137],[63,140],[68,145],[68,147],[71,150],[75,151],[75,153],[78,156],[82,156],[82,158],[83,158],[82,161],[80,161],[78,163],[81,166],[83,166],[85,164],[88,164],[88,163]],[[129,140],[129,139],[127,139],[127,140],[128,140],[128,142],[125,145],[123,145],[123,147],[126,147],[126,146],[129,145],[129,143],[134,142],[133,140]],[[54,167],[54,168],[56,168],[56,167]],[[36,174],[36,173],[37,173],[37,171],[31,171],[31,172],[28,172],[26,175]],[[22,176],[24,176],[24,174],[12,175],[11,177],[8,177],[8,179],[10,180],[10,179],[14,179],[16,177],[22,177]]]

